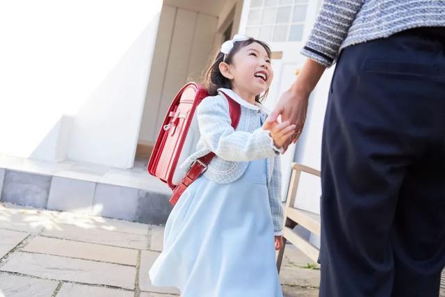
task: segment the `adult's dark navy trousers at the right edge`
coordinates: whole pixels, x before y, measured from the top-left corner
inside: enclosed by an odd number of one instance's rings
[[[408,30],[341,52],[321,182],[320,296],[439,296],[445,38]]]

